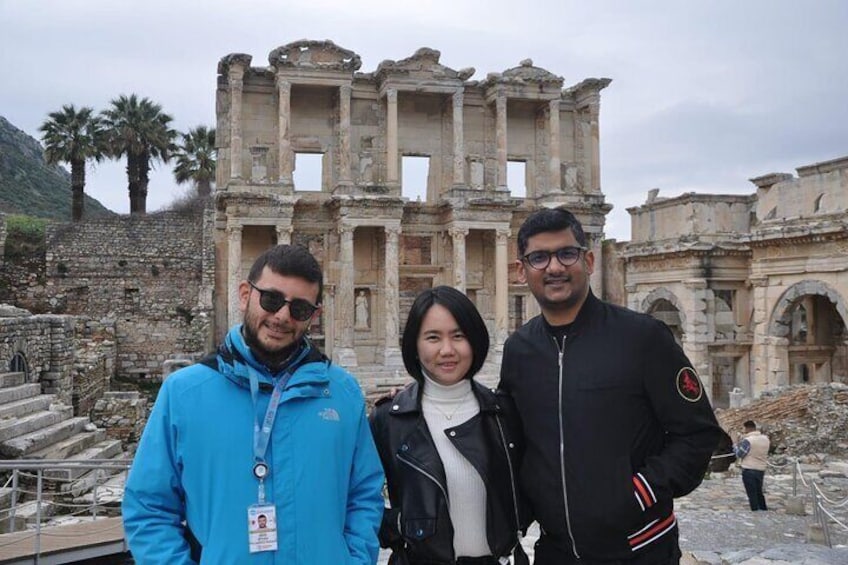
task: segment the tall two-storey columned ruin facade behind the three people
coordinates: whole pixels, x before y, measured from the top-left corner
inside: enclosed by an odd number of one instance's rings
[[[251,61],[235,53],[218,65],[216,338],[240,321],[238,282],[275,243],[307,245],[322,264],[324,311],[312,334],[325,351],[349,367],[391,371],[402,368],[402,321],[422,289],[467,292],[495,358],[536,313],[512,266],[530,211],[568,206],[603,255],[611,206],[598,116],[609,79],[563,88],[562,77],[525,60],[469,80],[474,69],[447,67],[429,48],[363,73],[360,57],[331,41],[284,45],[265,66]],[[320,155],[320,186],[294,182],[306,154]],[[420,201],[403,186],[413,156],[429,164]],[[510,163],[524,167],[521,197],[508,186]],[[367,324],[357,324],[357,297]]]

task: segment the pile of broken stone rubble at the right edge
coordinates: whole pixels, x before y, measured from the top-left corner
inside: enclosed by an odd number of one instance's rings
[[[848,385],[794,385],[765,392],[740,408],[718,410],[734,440],[753,420],[769,436],[771,451],[789,457],[848,453]]]

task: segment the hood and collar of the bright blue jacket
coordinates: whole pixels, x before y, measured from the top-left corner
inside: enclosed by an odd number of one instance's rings
[[[304,380],[308,382],[327,380],[326,365],[329,365],[330,360],[307,338],[301,339],[300,345],[292,353],[293,361],[276,373],[272,373],[254,357],[250,347],[244,341],[241,329],[242,324],[232,327],[217,351],[218,370],[235,384],[250,388],[251,372],[258,377],[261,389],[273,387],[277,379],[285,372],[292,374],[288,386],[301,384]],[[301,368],[309,364],[318,364],[315,366],[316,370],[301,371]]]

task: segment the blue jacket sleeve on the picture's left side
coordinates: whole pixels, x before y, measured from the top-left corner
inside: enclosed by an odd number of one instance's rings
[[[124,491],[124,532],[139,565],[194,563],[185,537],[173,401],[166,381],[144,428]]]

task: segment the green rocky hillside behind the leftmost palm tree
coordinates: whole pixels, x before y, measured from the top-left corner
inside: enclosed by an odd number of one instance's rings
[[[44,162],[41,143],[0,116],[0,212],[71,219],[71,175]],[[85,216],[115,213],[86,195]]]

